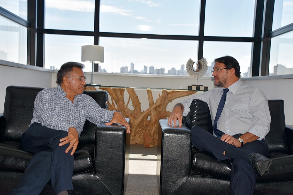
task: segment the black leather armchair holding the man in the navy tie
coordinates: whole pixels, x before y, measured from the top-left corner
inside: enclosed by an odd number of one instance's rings
[[[254,194],[293,194],[293,129],[285,126],[284,101],[268,100],[272,122],[265,137],[272,165],[258,176]],[[195,99],[185,125],[159,121],[157,181],[160,194],[230,194],[231,161],[191,146],[189,128],[198,125],[212,133],[207,103]]]

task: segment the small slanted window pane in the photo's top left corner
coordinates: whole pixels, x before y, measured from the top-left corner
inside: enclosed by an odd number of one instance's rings
[[[25,20],[28,20],[27,0],[1,0],[0,6]]]

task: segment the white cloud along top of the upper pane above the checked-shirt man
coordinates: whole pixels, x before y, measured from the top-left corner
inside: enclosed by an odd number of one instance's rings
[[[59,10],[93,12],[95,3],[77,0],[46,0],[46,7]]]

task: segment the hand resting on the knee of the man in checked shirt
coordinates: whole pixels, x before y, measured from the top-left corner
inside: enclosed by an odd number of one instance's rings
[[[78,132],[76,130],[76,128],[74,127],[70,127],[68,129],[68,136],[60,139],[60,144],[59,146],[63,146],[65,144],[69,144],[68,148],[65,150],[65,153],[68,153],[69,150],[72,148],[72,151],[70,153],[70,155],[72,156],[74,154],[74,152],[76,151],[77,145],[78,145]]]

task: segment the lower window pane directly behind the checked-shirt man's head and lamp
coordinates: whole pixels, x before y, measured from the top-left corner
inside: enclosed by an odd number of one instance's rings
[[[59,69],[69,61],[81,62],[81,46],[92,45],[93,37],[73,35],[45,35],[45,68]],[[84,72],[91,72],[91,63],[86,65]]]

